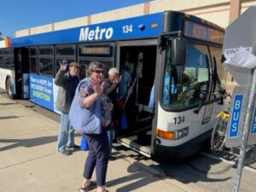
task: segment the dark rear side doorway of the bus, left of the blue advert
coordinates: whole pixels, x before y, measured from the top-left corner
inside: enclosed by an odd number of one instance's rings
[[[15,48],[15,85],[20,98],[29,98],[29,51]]]

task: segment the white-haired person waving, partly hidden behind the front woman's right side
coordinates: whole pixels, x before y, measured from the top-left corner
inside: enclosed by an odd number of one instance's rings
[[[108,70],[108,79],[105,79],[105,94],[108,96],[109,102],[113,103],[113,112],[112,112],[112,121],[107,127],[108,132],[108,150],[109,150],[109,160],[114,160],[112,155],[112,144],[113,144],[113,127],[114,119],[117,119],[117,88],[122,79],[122,76],[119,76],[119,70],[117,68],[111,68]]]

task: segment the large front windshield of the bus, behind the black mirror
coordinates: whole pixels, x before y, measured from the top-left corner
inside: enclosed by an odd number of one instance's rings
[[[171,63],[171,45],[166,48],[165,72],[163,76],[161,103],[167,110],[182,111],[198,106],[210,98],[212,67],[209,47],[202,44],[187,44],[186,61],[182,66]],[[214,55],[221,55],[221,49],[214,49]]]

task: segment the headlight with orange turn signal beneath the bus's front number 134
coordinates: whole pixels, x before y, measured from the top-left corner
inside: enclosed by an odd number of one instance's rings
[[[156,130],[156,136],[164,139],[176,140],[185,137],[189,134],[189,127],[185,127],[177,131],[162,131],[160,129]]]

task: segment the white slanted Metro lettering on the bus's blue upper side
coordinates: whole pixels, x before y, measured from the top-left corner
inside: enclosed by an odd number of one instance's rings
[[[96,29],[91,29],[89,27],[80,29],[79,41],[92,41],[92,40],[102,40],[110,39],[113,36],[113,28],[100,28],[96,26]]]

